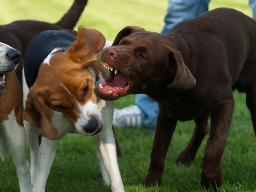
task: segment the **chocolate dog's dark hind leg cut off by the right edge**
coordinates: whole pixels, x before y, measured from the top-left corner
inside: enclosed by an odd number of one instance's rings
[[[256,85],[248,88],[246,91],[246,105],[250,110],[252,125],[256,136]]]

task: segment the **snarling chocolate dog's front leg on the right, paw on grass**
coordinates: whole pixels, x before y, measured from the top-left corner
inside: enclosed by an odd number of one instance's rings
[[[224,100],[220,106],[211,113],[210,136],[204,150],[202,162],[201,185],[209,188],[210,185],[216,190],[216,186],[222,184],[221,157],[226,147],[228,129],[234,110],[234,99]],[[215,186],[216,182],[216,186]]]

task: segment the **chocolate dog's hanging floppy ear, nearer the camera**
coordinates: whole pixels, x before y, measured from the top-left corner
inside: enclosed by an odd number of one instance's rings
[[[171,54],[173,59],[170,62],[172,62],[171,65],[175,65],[176,75],[172,84],[166,87],[177,91],[187,91],[193,88],[196,85],[196,79],[185,65],[181,53],[172,51]]]

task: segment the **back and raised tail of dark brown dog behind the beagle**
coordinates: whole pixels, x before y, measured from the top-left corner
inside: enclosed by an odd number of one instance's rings
[[[5,43],[21,52],[20,65],[16,70],[19,83],[22,87],[23,55],[29,41],[45,30],[73,29],[84,10],[87,0],[74,0],[68,12],[56,23],[47,23],[36,20],[18,20],[8,25],[0,25],[0,42]]]

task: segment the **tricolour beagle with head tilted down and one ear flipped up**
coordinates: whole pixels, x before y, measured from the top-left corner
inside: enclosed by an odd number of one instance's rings
[[[24,125],[33,191],[44,191],[57,144],[68,132],[95,136],[103,180],[112,191],[124,191],[112,131],[114,102],[95,94],[95,87],[107,77],[98,61],[105,42],[99,31],[79,26],[76,36],[48,30],[28,44]],[[40,147],[35,126],[43,131]]]

